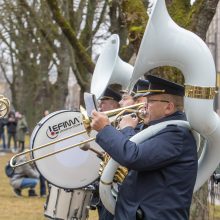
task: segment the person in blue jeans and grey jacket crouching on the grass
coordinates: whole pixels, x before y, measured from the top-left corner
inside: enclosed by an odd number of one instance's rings
[[[17,158],[16,163],[26,161],[25,156]],[[30,164],[15,168],[14,175],[10,178],[10,184],[16,196],[22,196],[22,190],[29,188],[28,196],[37,196],[35,187],[39,181],[39,173]]]

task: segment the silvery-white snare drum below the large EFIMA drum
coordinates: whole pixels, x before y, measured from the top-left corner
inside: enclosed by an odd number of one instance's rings
[[[92,186],[66,191],[50,184],[44,216],[60,220],[88,219],[92,191]]]

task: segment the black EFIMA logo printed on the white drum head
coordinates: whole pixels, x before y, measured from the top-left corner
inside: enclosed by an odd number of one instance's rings
[[[46,134],[48,138],[55,139],[60,133],[79,125],[81,125],[81,123],[78,118],[66,120],[64,122],[48,126]]]

